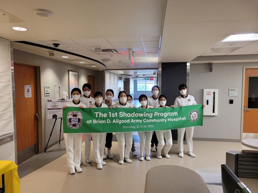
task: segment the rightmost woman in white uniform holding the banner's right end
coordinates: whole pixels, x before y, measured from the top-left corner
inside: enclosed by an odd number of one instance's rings
[[[188,105],[195,105],[197,104],[194,97],[192,95],[187,94],[187,86],[185,84],[179,85],[179,92],[180,96],[175,99],[174,106],[175,107],[182,107]],[[204,108],[204,104],[203,104]],[[191,157],[195,157],[195,154],[192,153],[193,145],[192,145],[192,137],[193,137],[193,128],[194,127],[186,127],[178,129],[178,151],[179,157],[184,157],[184,133],[186,132],[186,141],[187,141],[187,155]]]

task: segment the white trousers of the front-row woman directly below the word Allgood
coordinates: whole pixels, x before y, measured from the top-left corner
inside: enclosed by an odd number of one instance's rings
[[[119,160],[129,159],[133,143],[133,133],[119,132],[115,134],[118,142]]]

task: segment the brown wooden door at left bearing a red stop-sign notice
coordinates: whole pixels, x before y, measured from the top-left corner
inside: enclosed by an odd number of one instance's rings
[[[38,146],[38,120],[35,119],[37,113],[36,67],[14,64],[14,85],[19,159],[19,152]],[[25,85],[31,85],[31,97],[25,97],[25,92],[29,91],[25,89]]]

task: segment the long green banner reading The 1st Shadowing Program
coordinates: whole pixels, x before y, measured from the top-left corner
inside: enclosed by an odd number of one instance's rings
[[[153,109],[63,109],[64,133],[158,131],[202,125],[202,104]]]

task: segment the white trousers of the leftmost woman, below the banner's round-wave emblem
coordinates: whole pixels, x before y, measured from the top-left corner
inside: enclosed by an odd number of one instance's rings
[[[80,166],[82,133],[64,133],[64,138],[66,146],[66,158],[69,168]]]

